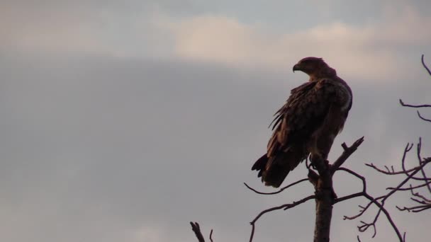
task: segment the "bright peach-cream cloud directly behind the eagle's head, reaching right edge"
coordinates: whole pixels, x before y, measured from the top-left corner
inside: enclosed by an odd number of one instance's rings
[[[186,59],[241,67],[287,69],[306,56],[325,57],[343,76],[389,79],[403,76],[401,49],[427,46],[431,33],[418,26],[431,18],[414,8],[386,11],[377,23],[362,26],[336,21],[289,33],[267,31],[262,25],[235,18],[203,15],[172,21],[175,54]]]

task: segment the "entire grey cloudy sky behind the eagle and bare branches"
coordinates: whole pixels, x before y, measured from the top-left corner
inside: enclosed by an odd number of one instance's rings
[[[307,80],[299,59],[323,57],[353,91],[329,159],[364,136],[345,163],[381,195],[399,178],[407,142],[430,125],[398,103],[431,103],[430,1],[1,1],[0,240],[248,241],[263,209],[313,194],[303,183],[262,196],[250,168],[273,113]],[[431,117],[431,112],[422,110]],[[428,153],[427,153],[428,152]],[[408,156],[414,165],[415,154]],[[305,166],[284,184],[306,176]],[[335,175],[339,196],[361,189]],[[356,199],[336,204],[331,240],[356,241]],[[426,212],[387,206],[408,241],[427,241]],[[254,241],[310,241],[312,201],[264,215]],[[374,219],[376,210],[361,220]],[[384,217],[362,241],[394,241]]]

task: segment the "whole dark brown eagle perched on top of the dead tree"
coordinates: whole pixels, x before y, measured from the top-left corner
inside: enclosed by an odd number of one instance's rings
[[[312,162],[326,161],[352,108],[352,90],[322,58],[303,58],[293,66],[294,71],[303,71],[310,79],[293,88],[275,113],[267,154],[252,166],[262,182],[274,188],[309,155]]]

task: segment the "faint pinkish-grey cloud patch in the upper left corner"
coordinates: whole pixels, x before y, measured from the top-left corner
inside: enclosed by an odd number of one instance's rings
[[[1,4],[0,50],[84,52],[98,46],[91,25],[84,23],[88,11],[34,7]]]

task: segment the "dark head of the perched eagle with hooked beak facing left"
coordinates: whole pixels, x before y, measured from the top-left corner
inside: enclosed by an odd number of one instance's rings
[[[303,71],[308,74],[308,76],[310,76],[310,81],[337,75],[335,69],[330,68],[322,58],[318,57],[306,57],[301,59],[293,66],[293,72],[294,71]]]

